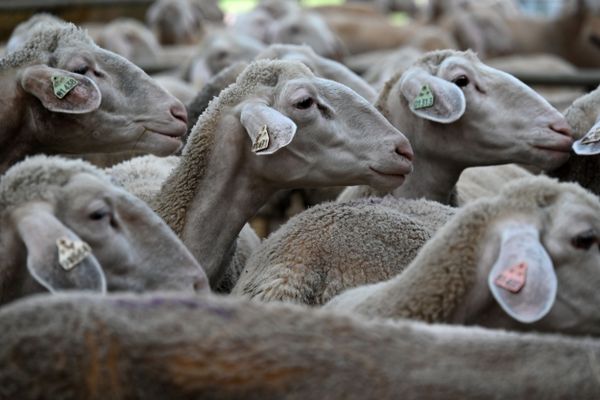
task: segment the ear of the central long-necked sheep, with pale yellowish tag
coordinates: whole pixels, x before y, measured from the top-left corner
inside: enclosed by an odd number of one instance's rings
[[[259,155],[273,154],[294,139],[294,121],[264,103],[244,104],[240,121],[252,140],[252,151]]]

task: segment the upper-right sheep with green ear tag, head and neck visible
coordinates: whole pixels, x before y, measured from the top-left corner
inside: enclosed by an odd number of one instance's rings
[[[417,108],[423,90],[432,93],[432,105]],[[555,108],[470,51],[425,54],[386,83],[376,107],[406,133],[417,154],[414,172],[393,191],[396,197],[453,204],[465,168],[518,162],[552,169],[568,159],[572,144],[570,128]],[[383,194],[354,187],[339,200]]]

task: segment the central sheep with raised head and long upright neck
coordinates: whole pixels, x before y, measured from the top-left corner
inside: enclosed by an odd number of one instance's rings
[[[391,188],[411,158],[406,138],[351,89],[298,62],[258,60],[200,116],[151,205],[215,287],[238,233],[277,189]]]

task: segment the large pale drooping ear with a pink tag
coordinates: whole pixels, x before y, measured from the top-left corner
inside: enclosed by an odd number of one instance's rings
[[[554,305],[557,279],[550,256],[533,225],[510,225],[502,231],[496,263],[488,286],[500,306],[512,318],[532,323]]]

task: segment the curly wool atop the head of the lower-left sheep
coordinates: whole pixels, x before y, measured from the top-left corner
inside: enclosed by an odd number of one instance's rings
[[[92,174],[104,181],[111,178],[83,160],[38,155],[12,166],[0,177],[0,210],[32,200],[52,200],[54,188],[66,185],[78,173]]]

